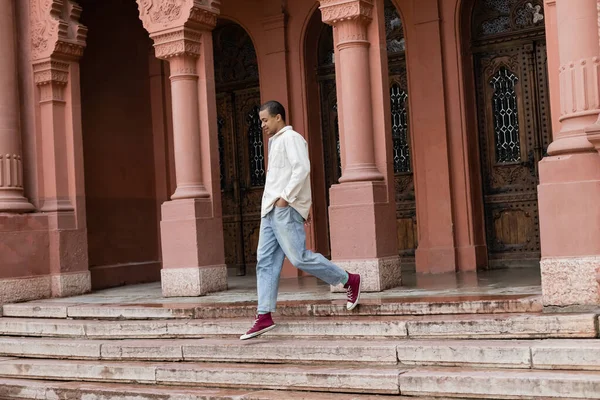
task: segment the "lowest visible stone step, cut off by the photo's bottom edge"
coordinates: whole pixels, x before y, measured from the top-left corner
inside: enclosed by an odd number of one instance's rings
[[[127,397],[126,397],[127,396]],[[241,390],[127,385],[118,383],[56,382],[0,379],[0,398],[14,400],[394,400],[415,399],[405,396],[339,394],[278,390]],[[433,400],[419,397],[420,400]],[[435,400],[448,400],[436,397]],[[453,398],[452,400],[457,400]]]

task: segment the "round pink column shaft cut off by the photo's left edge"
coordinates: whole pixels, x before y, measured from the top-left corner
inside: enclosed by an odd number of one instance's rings
[[[0,0],[0,212],[32,211],[23,196],[14,0]]]

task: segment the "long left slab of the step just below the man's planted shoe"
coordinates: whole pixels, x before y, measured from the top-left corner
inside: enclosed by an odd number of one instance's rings
[[[0,337],[0,356],[111,361],[396,365],[397,340],[290,338],[87,340]]]

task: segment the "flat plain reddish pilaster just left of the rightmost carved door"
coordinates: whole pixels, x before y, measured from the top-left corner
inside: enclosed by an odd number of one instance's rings
[[[457,208],[460,207],[458,203],[464,204],[468,200],[464,195],[455,196],[460,191],[460,182],[454,182],[452,186],[451,167],[458,166],[461,177],[464,177],[464,166],[457,165],[457,160],[451,158],[447,102],[452,96],[444,76],[447,66],[444,65],[442,47],[441,2],[413,0],[406,3],[412,8],[412,13],[406,13],[405,26],[419,232],[415,251],[416,270],[418,273],[473,270],[477,258],[482,258],[476,253],[482,250],[474,243],[462,240],[468,237],[465,231],[471,229],[471,221],[461,220],[461,212],[463,216],[465,213]],[[451,62],[448,64],[451,65]],[[457,203],[454,209],[453,201]],[[457,265],[457,254],[462,260],[468,260],[468,264]]]

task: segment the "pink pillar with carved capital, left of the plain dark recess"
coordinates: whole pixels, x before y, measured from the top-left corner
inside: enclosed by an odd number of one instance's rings
[[[89,292],[81,132],[79,59],[87,28],[72,0],[30,0],[31,58],[36,93],[37,137],[48,219],[52,296]],[[44,26],[45,29],[39,29]]]

